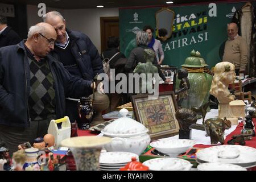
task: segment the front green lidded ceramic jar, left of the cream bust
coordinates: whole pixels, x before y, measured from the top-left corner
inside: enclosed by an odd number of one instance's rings
[[[191,109],[191,107],[200,107],[204,104],[205,97],[209,93],[209,84],[204,73],[204,66],[201,65],[198,53],[191,51],[191,56],[185,59],[181,67],[187,69],[190,88],[188,89],[188,97],[183,100],[181,106]]]

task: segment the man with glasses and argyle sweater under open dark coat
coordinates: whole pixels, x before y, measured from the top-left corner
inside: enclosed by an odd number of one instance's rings
[[[0,141],[10,153],[44,137],[51,119],[65,116],[65,97],[92,92],[92,82],[72,76],[48,55],[56,31],[48,23],[30,27],[26,42],[0,48]]]

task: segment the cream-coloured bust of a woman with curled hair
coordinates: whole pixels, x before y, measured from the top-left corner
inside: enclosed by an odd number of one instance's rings
[[[218,99],[222,104],[228,104],[234,100],[228,90],[236,78],[235,66],[229,62],[217,63],[214,67],[214,76],[210,86],[210,94]]]

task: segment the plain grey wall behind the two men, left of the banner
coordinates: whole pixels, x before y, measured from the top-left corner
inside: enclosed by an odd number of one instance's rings
[[[37,6],[27,5],[28,28],[38,22],[42,22],[42,18],[38,16],[38,10]],[[47,7],[46,12],[52,10],[59,11],[63,15],[67,28],[81,31],[88,35],[99,53],[101,53],[100,17],[119,16],[118,8],[63,10]]]

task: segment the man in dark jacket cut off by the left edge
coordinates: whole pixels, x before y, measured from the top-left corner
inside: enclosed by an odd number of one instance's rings
[[[13,28],[7,26],[6,17],[0,15],[0,47],[18,44],[20,40]]]

